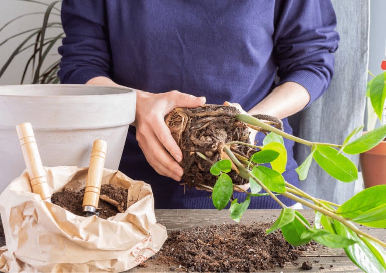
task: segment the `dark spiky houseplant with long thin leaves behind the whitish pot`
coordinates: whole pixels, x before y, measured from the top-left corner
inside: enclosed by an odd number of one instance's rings
[[[0,41],[1,47],[5,43],[23,37],[23,40],[15,46],[15,49],[8,56],[6,62],[0,67],[0,78],[7,68],[9,68],[12,61],[17,59],[22,53],[31,52],[23,67],[24,70],[20,83],[59,83],[59,78],[56,73],[59,69],[60,57],[58,55],[56,60],[52,60],[52,57],[49,57],[57,54],[57,42],[60,42],[64,37],[60,20],[60,8],[58,8],[61,1],[56,0],[49,4],[31,0],[20,1],[37,3],[44,6],[45,10],[15,17],[0,28],[0,33],[5,28],[12,27],[14,23],[37,14],[43,15],[42,23],[34,27],[31,27],[29,24],[23,24],[26,26],[23,30]],[[50,60],[48,61],[47,59]],[[31,73],[30,81],[27,80],[29,73]]]

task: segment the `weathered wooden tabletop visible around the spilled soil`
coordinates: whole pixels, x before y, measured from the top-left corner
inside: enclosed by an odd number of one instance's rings
[[[314,218],[312,210],[301,210],[303,216],[311,223]],[[197,226],[209,226],[222,223],[235,223],[227,210],[155,210],[157,222],[166,226],[168,232]],[[247,210],[241,219],[240,224],[252,224],[256,222],[273,222],[280,214],[280,210]],[[367,233],[385,241],[386,229],[375,229],[360,226]],[[304,261],[312,263],[311,270],[301,268]],[[176,270],[172,271],[171,266],[160,267],[153,260],[145,262],[147,267],[136,267],[127,272],[181,272],[176,264]],[[287,263],[284,268],[275,268],[272,271],[262,272],[363,272],[344,253],[343,249],[331,249],[318,246],[315,250],[305,251],[297,260],[297,264]],[[332,265],[332,267],[331,267]],[[324,269],[319,269],[324,267]]]

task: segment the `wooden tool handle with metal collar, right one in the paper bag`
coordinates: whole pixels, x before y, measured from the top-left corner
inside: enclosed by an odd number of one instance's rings
[[[90,165],[88,168],[83,198],[83,211],[95,212],[96,208],[98,208],[106,149],[107,143],[104,140],[95,140],[92,145]]]

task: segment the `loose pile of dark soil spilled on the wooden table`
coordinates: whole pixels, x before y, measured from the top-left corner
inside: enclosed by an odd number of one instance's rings
[[[280,231],[266,235],[271,223],[223,224],[175,231],[154,258],[141,264],[189,272],[256,272],[284,267],[313,244],[294,247]]]

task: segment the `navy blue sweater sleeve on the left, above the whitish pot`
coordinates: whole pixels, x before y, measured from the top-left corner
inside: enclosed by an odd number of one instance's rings
[[[66,34],[58,49],[61,83],[84,84],[96,76],[109,77],[104,1],[63,0],[61,19]]]

